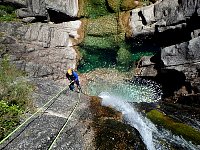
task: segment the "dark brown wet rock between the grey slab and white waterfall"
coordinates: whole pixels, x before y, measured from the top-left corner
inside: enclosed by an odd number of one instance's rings
[[[91,110],[94,114],[92,127],[95,132],[96,149],[146,149],[139,132],[122,123],[120,112],[101,106],[101,99],[91,97]]]

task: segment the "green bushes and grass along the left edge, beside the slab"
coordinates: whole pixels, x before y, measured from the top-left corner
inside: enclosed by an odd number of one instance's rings
[[[0,140],[19,124],[20,115],[31,107],[29,93],[33,87],[20,79],[23,73],[9,63],[0,62]]]

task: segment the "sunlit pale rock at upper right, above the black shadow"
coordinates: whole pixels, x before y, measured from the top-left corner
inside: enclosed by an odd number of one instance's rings
[[[193,16],[200,16],[199,3],[199,0],[164,0],[133,9],[130,17],[132,35],[135,37],[185,28]]]

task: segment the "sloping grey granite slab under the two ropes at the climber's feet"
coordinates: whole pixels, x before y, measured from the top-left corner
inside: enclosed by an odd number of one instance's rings
[[[64,88],[51,80],[31,79],[31,82],[37,86],[32,97],[38,109]],[[53,145],[53,149],[95,149],[94,131],[88,122],[93,116],[89,109],[89,98],[83,94],[80,94],[79,98],[76,92],[66,95],[64,91],[20,128],[11,137],[11,142],[7,140],[1,144],[0,149],[46,150],[67,120],[67,126]],[[73,109],[75,111],[69,117]]]

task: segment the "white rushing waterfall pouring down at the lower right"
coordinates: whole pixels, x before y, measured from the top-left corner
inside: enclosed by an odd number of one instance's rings
[[[130,102],[108,92],[102,92],[99,96],[102,98],[102,105],[111,106],[122,112],[124,120],[139,131],[148,150],[169,150],[171,149],[170,145],[178,145],[185,150],[200,149],[199,146],[193,145],[182,137],[173,135],[170,131],[158,130],[151,121],[140,115]]]

